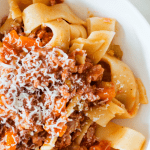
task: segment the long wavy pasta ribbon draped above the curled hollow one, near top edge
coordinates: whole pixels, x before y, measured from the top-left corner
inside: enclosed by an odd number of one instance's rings
[[[66,4],[46,6],[42,3],[35,3],[24,9],[23,22],[25,32],[30,33],[33,29],[55,19],[62,18],[72,24],[83,24],[85,22],[78,18]]]

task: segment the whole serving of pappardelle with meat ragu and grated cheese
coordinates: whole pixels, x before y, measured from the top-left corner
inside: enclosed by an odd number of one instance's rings
[[[83,21],[62,0],[9,6],[0,27],[0,149],[141,150],[141,133],[111,122],[148,103],[112,42],[116,20]]]

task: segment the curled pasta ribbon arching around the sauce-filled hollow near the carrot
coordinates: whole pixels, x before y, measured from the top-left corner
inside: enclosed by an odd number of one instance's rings
[[[63,19],[43,23],[42,26],[49,27],[53,32],[52,39],[46,44],[47,48],[58,47],[67,52],[71,39],[87,38],[87,33],[83,26],[69,25]]]

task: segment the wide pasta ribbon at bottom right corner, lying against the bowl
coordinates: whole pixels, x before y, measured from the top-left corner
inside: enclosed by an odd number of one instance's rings
[[[110,141],[112,148],[119,150],[141,150],[145,142],[141,133],[113,122],[109,122],[105,128],[98,126],[95,135],[100,140]]]

